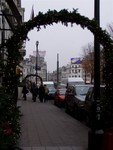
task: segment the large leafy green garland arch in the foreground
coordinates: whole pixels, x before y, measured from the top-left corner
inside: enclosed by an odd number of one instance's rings
[[[104,47],[105,83],[107,87],[106,89],[109,89],[107,95],[109,95],[109,100],[113,99],[113,41],[106,30],[102,30],[94,19],[90,20],[89,18],[80,15],[77,12],[77,9],[73,9],[73,11],[70,12],[66,9],[63,9],[59,12],[56,10],[48,10],[48,12],[45,14],[39,12],[33,20],[29,20],[28,22],[25,22],[21,26],[17,26],[15,28],[13,36],[5,43],[5,47],[7,48],[8,52],[8,62],[4,69],[5,76],[7,76],[7,80],[5,82],[6,85],[9,86],[7,88],[12,89],[15,87],[15,68],[21,60],[19,49],[22,46],[22,41],[27,39],[28,32],[33,30],[35,27],[37,28],[37,31],[40,31],[42,26],[46,28],[46,26],[53,25],[53,23],[62,23],[64,26],[68,26],[68,23],[70,23],[72,26],[73,24],[77,24],[83,29],[87,28],[98,37],[100,44]],[[2,46],[4,46],[4,44],[1,45],[1,47]]]

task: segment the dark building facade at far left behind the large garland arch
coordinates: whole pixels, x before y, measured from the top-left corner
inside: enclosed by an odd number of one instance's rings
[[[21,0],[0,0],[0,44],[5,43],[13,35],[15,27],[24,22],[24,11],[25,9],[21,7]],[[2,48],[0,53],[1,59],[7,59],[6,53],[5,47]],[[22,56],[26,55],[24,42],[20,53]],[[17,70],[19,69],[22,71],[22,63],[17,66]],[[2,73],[0,82],[2,82]]]

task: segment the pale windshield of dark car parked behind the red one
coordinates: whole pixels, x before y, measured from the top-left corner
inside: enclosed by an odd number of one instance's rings
[[[76,86],[76,95],[86,95],[90,86]]]

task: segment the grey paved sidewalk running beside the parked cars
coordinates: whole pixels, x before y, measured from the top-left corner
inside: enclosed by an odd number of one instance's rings
[[[89,128],[54,106],[53,101],[41,103],[18,100],[21,118],[22,150],[87,150]]]

